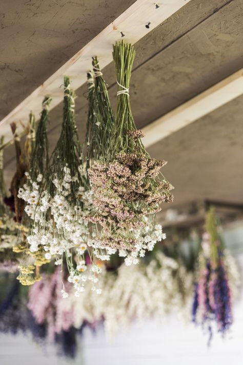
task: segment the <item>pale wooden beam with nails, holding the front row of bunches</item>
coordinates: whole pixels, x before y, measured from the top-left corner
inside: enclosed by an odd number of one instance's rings
[[[5,141],[12,138],[9,126],[11,122],[26,123],[30,111],[36,117],[39,115],[45,95],[52,97],[51,109],[62,101],[63,90],[60,86],[64,75],[71,78],[72,88],[76,90],[87,80],[92,56],[97,56],[100,67],[104,68],[112,62],[112,45],[122,35],[125,41],[134,44],[190,1],[160,0],[157,2],[159,7],[156,7],[154,0],[137,0],[0,122],[0,134],[5,135]]]

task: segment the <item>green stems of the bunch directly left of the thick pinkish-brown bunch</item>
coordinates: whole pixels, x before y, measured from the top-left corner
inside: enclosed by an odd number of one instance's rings
[[[92,65],[93,72],[88,74],[87,168],[92,166],[93,161],[106,160],[115,123],[107,84],[102,77],[97,57],[93,58]]]

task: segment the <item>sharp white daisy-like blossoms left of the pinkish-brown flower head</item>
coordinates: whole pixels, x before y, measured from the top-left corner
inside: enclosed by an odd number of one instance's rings
[[[25,211],[33,220],[31,233],[27,236],[30,251],[36,252],[39,245],[45,250],[45,258],[56,258],[55,265],[63,263],[63,255],[70,271],[69,281],[75,285],[77,292],[83,290],[86,277],[83,273],[87,269],[84,254],[88,249],[88,222],[84,216],[89,211],[89,194],[80,186],[76,193],[76,205],[70,199],[71,183],[77,177],[70,175],[70,170],[64,168],[62,180],[53,179],[55,194],[51,196],[43,189],[43,176],[38,175],[36,181],[28,181],[19,189],[18,197],[25,200]],[[84,204],[86,199],[87,205]],[[75,268],[72,264],[72,250],[75,249]],[[93,265],[91,265],[93,267]],[[75,277],[75,279],[73,279]],[[78,278],[78,279],[77,279]],[[95,281],[92,277],[93,282]],[[97,289],[98,290],[98,289]],[[63,297],[68,294],[63,289]]]

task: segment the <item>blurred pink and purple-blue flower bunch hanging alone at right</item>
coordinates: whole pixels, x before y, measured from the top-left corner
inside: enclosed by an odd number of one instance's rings
[[[214,321],[223,335],[232,324],[232,284],[229,277],[235,277],[236,273],[234,286],[239,283],[239,278],[234,260],[220,241],[213,208],[207,213],[206,229],[199,254],[192,316],[193,321],[208,327],[211,340]]]

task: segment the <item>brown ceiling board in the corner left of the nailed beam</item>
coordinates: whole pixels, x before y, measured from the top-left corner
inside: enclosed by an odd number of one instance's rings
[[[134,2],[2,1],[0,120]]]

